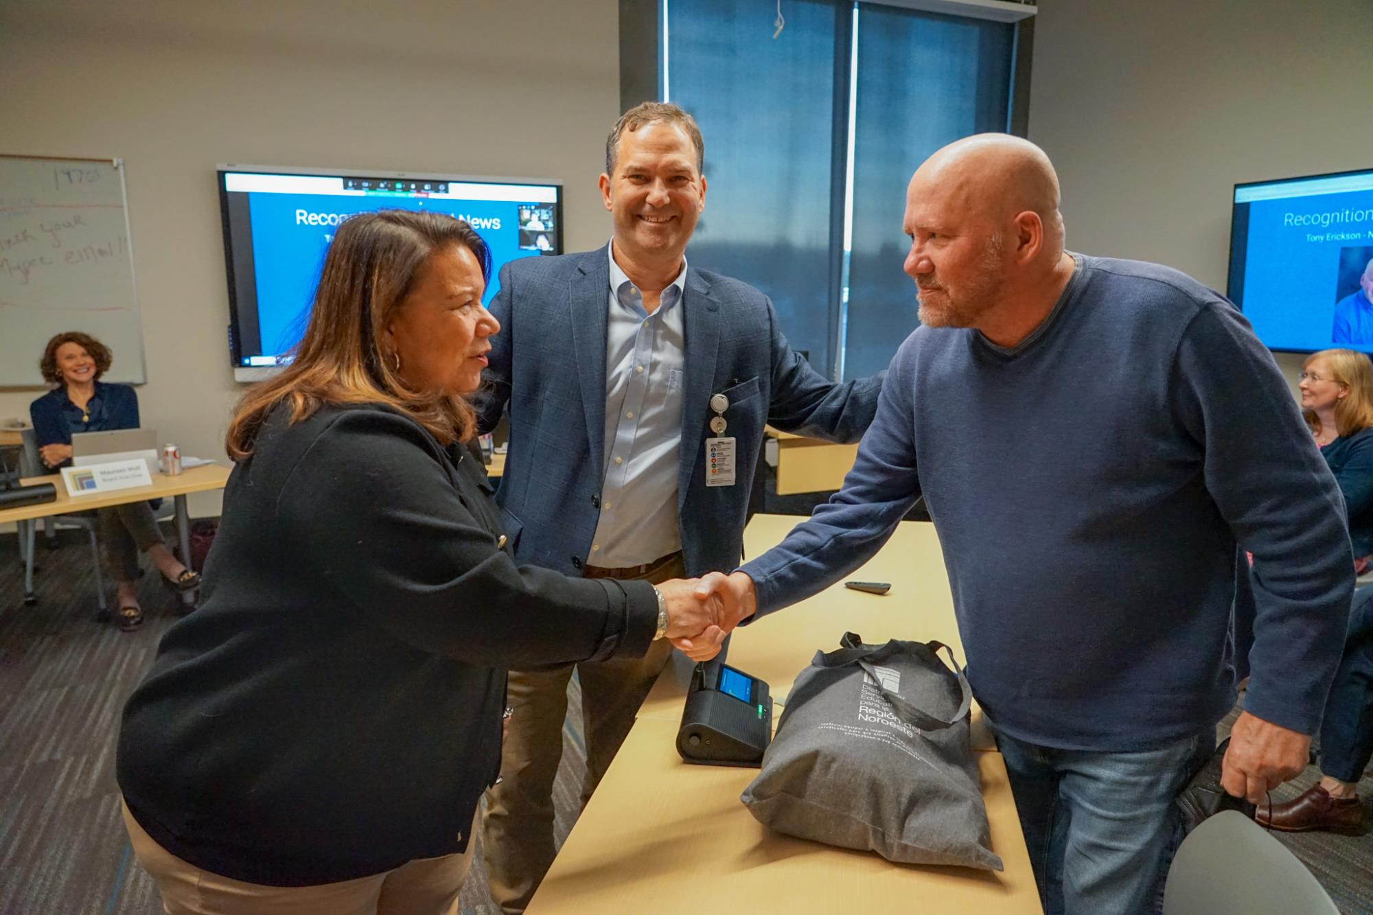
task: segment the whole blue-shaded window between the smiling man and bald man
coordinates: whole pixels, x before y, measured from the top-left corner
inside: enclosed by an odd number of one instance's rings
[[[692,265],[772,297],[820,371],[884,368],[916,327],[910,173],[1005,131],[1015,26],[879,3],[665,0],[659,85],[706,137]],[[846,243],[847,242],[847,243]]]

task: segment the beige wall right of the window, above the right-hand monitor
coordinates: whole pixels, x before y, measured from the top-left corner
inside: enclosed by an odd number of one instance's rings
[[[1373,166],[1370,40],[1369,0],[1041,0],[1030,139],[1070,247],[1223,293],[1232,184]]]

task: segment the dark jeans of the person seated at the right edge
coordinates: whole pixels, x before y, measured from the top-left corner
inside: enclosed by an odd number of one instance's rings
[[[1373,587],[1354,592],[1340,669],[1321,721],[1321,772],[1341,782],[1363,778],[1373,757]]]

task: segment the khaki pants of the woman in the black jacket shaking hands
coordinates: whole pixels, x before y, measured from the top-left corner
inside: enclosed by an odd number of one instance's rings
[[[319,886],[259,886],[183,861],[154,842],[129,808],[121,806],[133,855],[158,885],[166,915],[456,915],[457,893],[476,848],[474,834],[461,855],[416,859],[372,877]]]

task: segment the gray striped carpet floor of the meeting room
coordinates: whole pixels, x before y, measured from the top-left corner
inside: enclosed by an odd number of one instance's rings
[[[176,621],[173,598],[144,576],[147,622],[122,633],[92,618],[95,578],[81,541],[65,540],[55,552],[40,547],[38,561],[38,603],[25,606],[14,536],[0,536],[0,914],[158,915],[157,890],[129,853],[119,819],[114,742],[125,698]],[[568,720],[579,721],[575,680],[570,692]],[[1227,727],[1229,720],[1222,734]],[[579,727],[564,728],[563,750],[559,842],[577,816],[585,768]],[[1310,767],[1274,798],[1295,797],[1318,778]],[[1361,795],[1373,800],[1373,778],[1365,778]],[[1278,838],[1343,912],[1373,914],[1373,837]],[[497,911],[479,848],[461,911]]]

